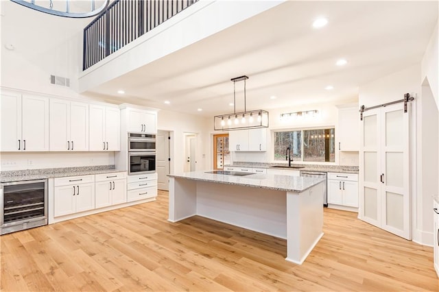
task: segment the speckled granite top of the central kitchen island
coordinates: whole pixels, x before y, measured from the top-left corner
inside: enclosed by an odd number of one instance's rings
[[[199,180],[202,182],[217,182],[219,184],[235,184],[239,186],[251,186],[256,188],[268,188],[275,191],[302,192],[324,182],[323,178],[303,178],[291,175],[272,175],[254,173],[246,176],[205,173],[192,171],[179,174],[169,174],[171,178],[185,178],[187,180]]]

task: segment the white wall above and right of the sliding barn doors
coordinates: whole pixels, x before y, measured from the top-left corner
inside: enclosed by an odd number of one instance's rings
[[[431,206],[433,199],[431,193],[425,191],[431,186],[424,184],[426,173],[437,173],[436,168],[431,169],[431,165],[423,165],[423,161],[437,157],[431,156],[431,145],[437,145],[438,132],[437,114],[434,114],[434,101],[422,95],[421,89],[421,66],[416,64],[402,71],[381,77],[374,82],[359,87],[359,104],[376,106],[385,104],[389,101],[403,99],[405,93],[410,93],[416,98],[412,102],[414,112],[410,131],[412,132],[410,149],[410,173],[411,173],[411,193],[412,193],[412,238],[418,243],[431,245],[433,243],[433,215]],[[433,107],[433,108],[432,108]],[[436,118],[435,118],[436,116]],[[435,122],[436,121],[436,122]],[[437,158],[436,158],[437,159]],[[437,180],[437,177],[436,177]]]

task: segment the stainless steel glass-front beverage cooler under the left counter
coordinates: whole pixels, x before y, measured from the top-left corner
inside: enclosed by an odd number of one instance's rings
[[[0,234],[47,225],[47,180],[0,184]]]

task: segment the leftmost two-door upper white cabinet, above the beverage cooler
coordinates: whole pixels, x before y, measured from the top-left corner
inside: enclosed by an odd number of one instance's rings
[[[1,94],[0,151],[49,151],[49,98]]]

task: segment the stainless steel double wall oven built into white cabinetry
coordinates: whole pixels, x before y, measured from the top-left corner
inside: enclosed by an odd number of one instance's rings
[[[156,172],[156,134],[128,133],[128,175]]]

